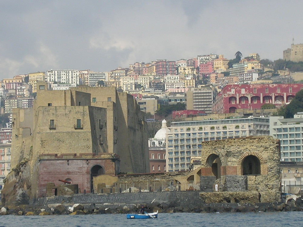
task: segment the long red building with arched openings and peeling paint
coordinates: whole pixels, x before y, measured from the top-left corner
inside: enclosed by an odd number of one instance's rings
[[[284,106],[303,84],[228,84],[215,98],[213,113],[235,113],[238,109],[261,109],[264,104]]]

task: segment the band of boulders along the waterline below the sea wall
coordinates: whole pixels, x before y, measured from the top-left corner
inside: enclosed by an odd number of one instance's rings
[[[171,204],[173,205],[173,204]],[[3,206],[0,215],[87,215],[87,214],[127,214],[138,213],[141,206],[146,212],[159,213],[213,213],[213,212],[281,212],[281,211],[303,211],[303,200],[299,197],[296,201],[289,199],[287,203],[210,203],[199,207],[171,206],[165,202],[153,201],[152,203],[139,204],[48,204],[44,206],[19,205]]]

